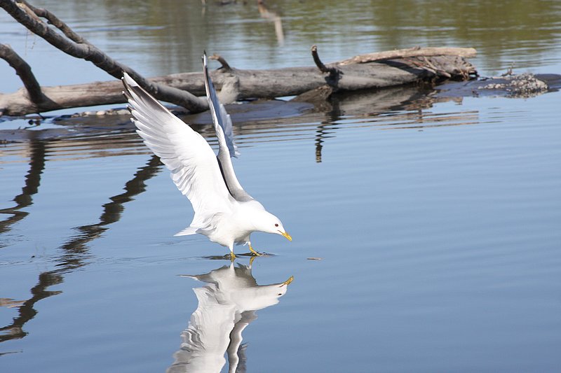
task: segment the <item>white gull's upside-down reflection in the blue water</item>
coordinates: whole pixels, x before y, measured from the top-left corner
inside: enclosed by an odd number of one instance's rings
[[[207,283],[194,288],[198,307],[181,333],[181,348],[168,368],[175,372],[220,372],[228,355],[229,372],[245,372],[241,333],[257,318],[255,311],[273,306],[293,277],[283,283],[257,285],[251,265],[225,265],[208,274],[187,276]]]

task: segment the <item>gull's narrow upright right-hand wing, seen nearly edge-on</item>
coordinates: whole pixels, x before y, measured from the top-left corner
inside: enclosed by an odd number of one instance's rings
[[[232,120],[230,115],[226,112],[224,105],[220,104],[210,74],[208,73],[206,54],[203,55],[203,72],[205,75],[205,88],[206,96],[208,99],[208,106],[210,108],[210,115],[212,115],[212,122],[215,124],[216,136],[218,138],[218,162],[224,182],[232,197],[237,201],[251,201],[253,198],[243,190],[232,165],[231,157],[238,156],[238,149],[234,144],[234,134],[232,133]]]

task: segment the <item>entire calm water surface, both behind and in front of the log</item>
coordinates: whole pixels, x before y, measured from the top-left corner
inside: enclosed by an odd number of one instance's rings
[[[313,43],[325,60],[460,45],[482,75],[561,71],[555,1],[271,1],[282,38],[252,3],[172,3],[40,4],[147,75],[198,70],[203,49],[310,64]],[[0,33],[45,85],[107,79],[2,13]],[[238,178],[294,240],[255,234],[271,255],[235,265],[173,237],[190,204],[127,118],[46,120],[0,148],[0,371],[559,372],[560,102],[410,88],[236,120]]]

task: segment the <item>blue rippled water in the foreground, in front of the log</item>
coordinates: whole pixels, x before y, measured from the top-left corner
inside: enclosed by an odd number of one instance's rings
[[[191,206],[130,125],[47,120],[0,148],[0,370],[227,372],[236,330],[238,372],[558,372],[560,99],[236,122],[238,178],[293,241],[232,267],[173,237]]]

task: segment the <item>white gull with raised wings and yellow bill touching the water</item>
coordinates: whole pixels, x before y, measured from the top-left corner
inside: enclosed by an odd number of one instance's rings
[[[203,74],[218,138],[218,155],[201,134],[173,115],[128,73],[123,73],[123,94],[128,99],[128,109],[133,115],[130,119],[137,127],[137,134],[171,171],[177,189],[193,206],[195,214],[191,225],[175,236],[203,234],[210,241],[229,248],[231,260],[236,258],[236,244],[248,244],[252,255],[259,255],[251,246],[252,232],[280,234],[289,241],[292,237],[280,219],[245,192],[236,178],[231,157],[236,157],[238,151],[231,118],[218,100],[207,63],[205,54]]]

